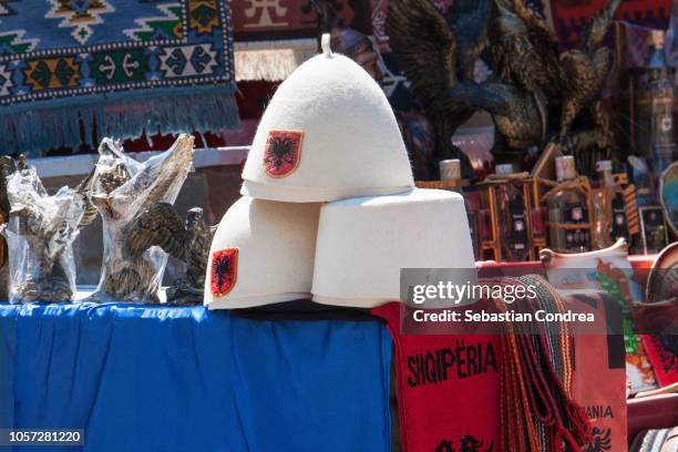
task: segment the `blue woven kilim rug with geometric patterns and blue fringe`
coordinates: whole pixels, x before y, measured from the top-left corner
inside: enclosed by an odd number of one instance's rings
[[[0,0],[0,154],[237,129],[234,91],[228,0]]]

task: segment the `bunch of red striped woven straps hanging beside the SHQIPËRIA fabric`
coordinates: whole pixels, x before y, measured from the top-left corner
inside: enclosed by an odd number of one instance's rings
[[[514,311],[565,312],[563,299],[540,276],[502,278],[493,284],[536,288],[537,297],[512,305]],[[497,309],[506,311],[502,299]],[[581,451],[590,424],[572,398],[572,335],[566,322],[535,325],[534,335],[506,323],[501,337],[500,450]]]

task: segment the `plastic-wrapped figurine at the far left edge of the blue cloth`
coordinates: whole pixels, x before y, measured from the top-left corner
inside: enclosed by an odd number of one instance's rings
[[[72,301],[82,196],[69,187],[49,196],[33,168],[10,175],[7,193],[11,212],[1,232],[9,248],[10,302]]]

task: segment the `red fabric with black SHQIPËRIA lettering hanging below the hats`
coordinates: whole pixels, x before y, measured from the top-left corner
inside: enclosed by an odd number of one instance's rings
[[[402,335],[400,304],[372,309],[393,338],[400,434],[407,452],[496,451],[496,336]]]

